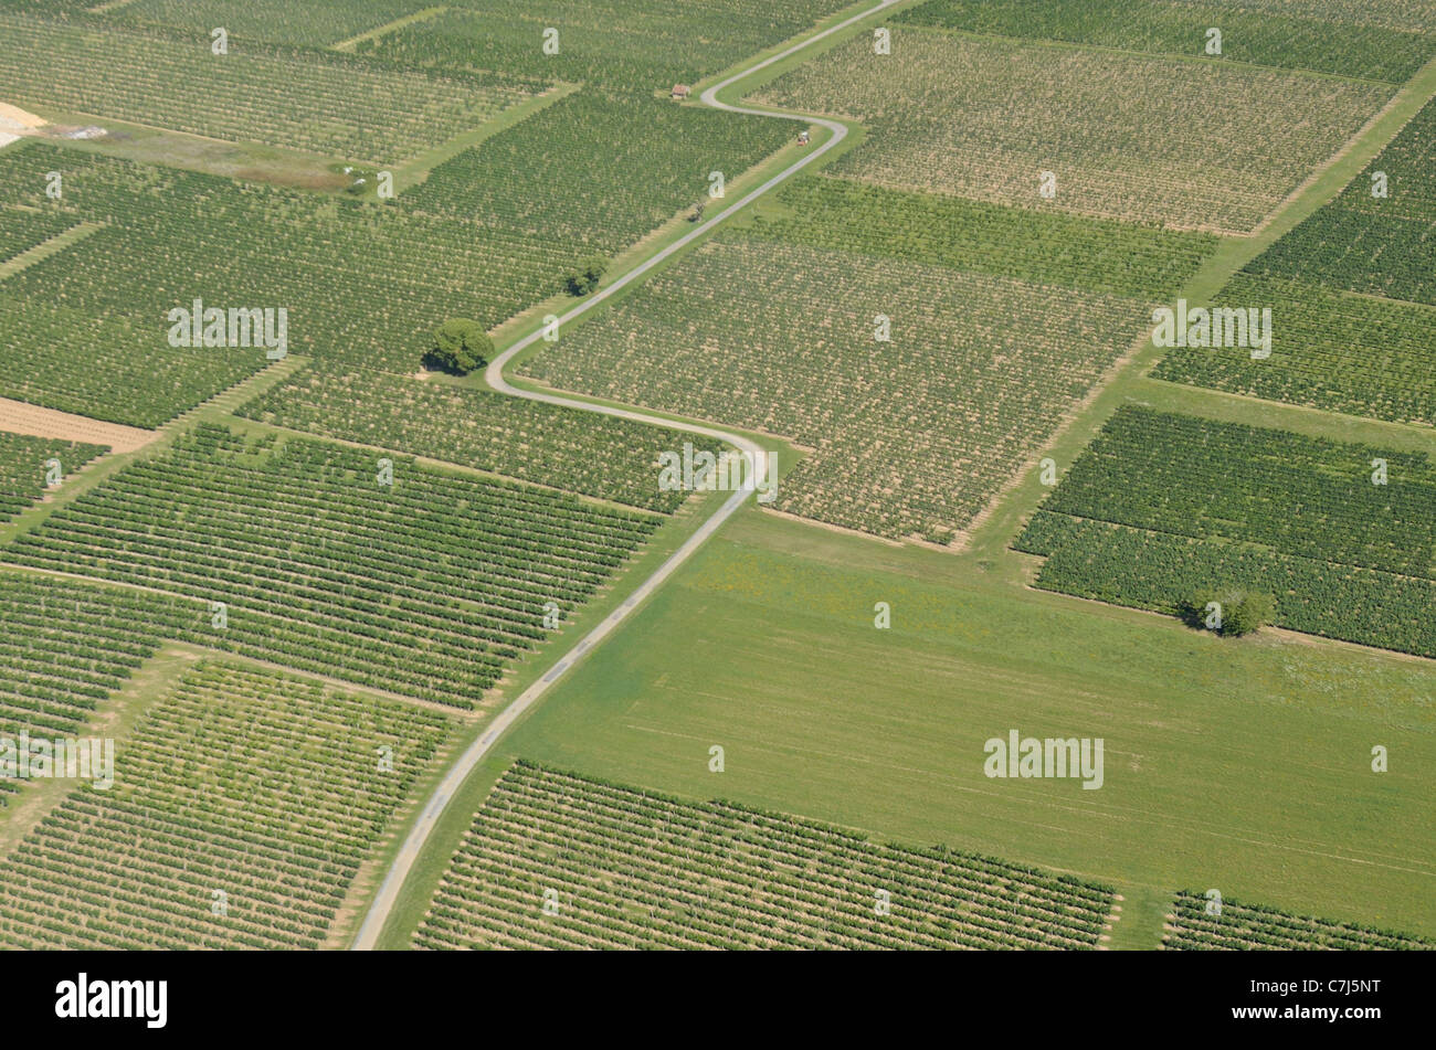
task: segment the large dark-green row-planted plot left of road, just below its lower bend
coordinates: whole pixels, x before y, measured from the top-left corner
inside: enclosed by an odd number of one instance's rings
[[[661,521],[389,462],[201,425],[4,557],[223,605],[187,641],[474,707]]]

